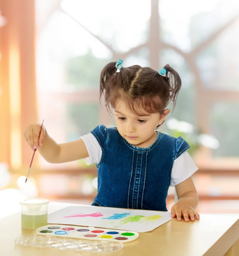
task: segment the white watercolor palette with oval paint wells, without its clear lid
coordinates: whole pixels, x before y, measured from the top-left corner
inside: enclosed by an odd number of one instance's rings
[[[125,230],[110,230],[106,228],[95,228],[72,225],[46,225],[36,229],[37,235],[52,235],[72,239],[84,239],[95,241],[110,241],[127,243],[138,238],[137,232]]]

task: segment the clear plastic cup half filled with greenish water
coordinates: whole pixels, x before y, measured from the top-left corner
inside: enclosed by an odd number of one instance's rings
[[[22,229],[36,230],[47,225],[47,205],[43,198],[26,199],[20,202],[22,212]]]

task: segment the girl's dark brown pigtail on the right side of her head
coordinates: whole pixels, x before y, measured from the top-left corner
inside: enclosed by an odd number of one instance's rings
[[[168,78],[168,86],[169,86],[169,91],[170,91],[170,101],[173,102],[173,110],[175,108],[176,105],[176,100],[179,94],[179,91],[181,89],[181,78],[179,76],[179,73],[173,69],[172,67],[170,67],[169,64],[166,64],[164,66],[164,69],[166,70],[166,76]],[[173,112],[172,110],[172,112]]]

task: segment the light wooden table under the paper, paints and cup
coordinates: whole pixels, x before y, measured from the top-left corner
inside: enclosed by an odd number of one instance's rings
[[[50,203],[48,212],[72,204]],[[4,206],[1,206],[4,207]],[[6,206],[5,206],[6,207]],[[21,229],[20,212],[0,219],[1,256],[70,256],[66,251],[50,251],[21,247],[14,239],[35,231]],[[201,214],[200,221],[184,222],[175,218],[153,231],[140,233],[139,238],[124,244],[114,256],[238,256],[239,215]],[[74,254],[76,255],[76,254]],[[81,255],[80,253],[77,255]],[[98,254],[92,254],[98,255]]]

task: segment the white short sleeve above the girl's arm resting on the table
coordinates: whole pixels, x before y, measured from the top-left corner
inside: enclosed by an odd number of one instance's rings
[[[190,154],[188,154],[187,151],[183,154],[180,154],[180,156],[176,160],[174,160],[173,163],[170,186],[176,186],[184,180],[187,180],[197,170],[198,167],[196,166],[193,158],[190,156]]]

